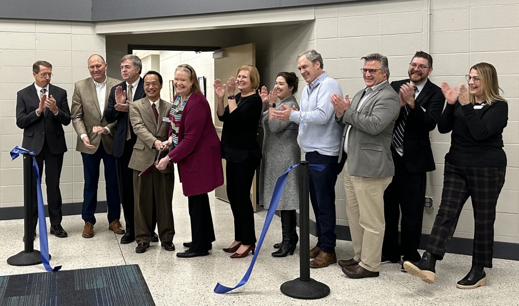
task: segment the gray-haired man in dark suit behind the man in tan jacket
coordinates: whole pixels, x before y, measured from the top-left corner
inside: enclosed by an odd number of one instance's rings
[[[121,58],[121,76],[124,82],[110,90],[108,106],[104,114],[108,123],[117,121],[112,155],[117,158],[119,196],[126,221],[126,234],[121,237],[122,244],[135,240],[133,170],[128,168],[128,164],[137,136],[131,127],[128,111],[132,101],[146,97],[144,80],[140,77],[141,71],[142,62],[138,56],[128,54]],[[153,216],[155,216],[155,206]],[[153,229],[155,229],[156,223],[156,218],[153,218]],[[158,242],[156,233],[152,234],[152,242]]]

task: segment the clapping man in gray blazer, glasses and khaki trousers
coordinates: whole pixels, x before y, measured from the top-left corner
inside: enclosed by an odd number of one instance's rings
[[[379,274],[385,227],[383,197],[394,174],[390,147],[400,112],[398,94],[388,82],[387,57],[375,53],[362,60],[366,88],[351,103],[348,95],[345,99],[337,94],[331,97],[335,119],[344,126],[341,155],[346,157],[346,214],[355,255],[339,260],[339,265],[350,278]]]

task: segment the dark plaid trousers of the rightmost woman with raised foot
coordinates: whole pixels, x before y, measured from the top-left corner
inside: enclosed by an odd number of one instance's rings
[[[426,250],[438,260],[456,230],[463,205],[471,197],[474,211],[472,264],[492,268],[496,204],[506,167],[458,167],[445,162],[442,202]]]

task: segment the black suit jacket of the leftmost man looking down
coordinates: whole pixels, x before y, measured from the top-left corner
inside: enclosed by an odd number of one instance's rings
[[[50,153],[61,154],[67,151],[63,126],[70,124],[70,109],[66,90],[49,84],[48,97],[50,95],[56,100],[58,114],[54,116],[52,112],[46,111],[38,117],[36,110],[39,95],[34,83],[16,94],[16,125],[23,129],[22,147],[34,151],[36,155],[42,152],[45,140]]]

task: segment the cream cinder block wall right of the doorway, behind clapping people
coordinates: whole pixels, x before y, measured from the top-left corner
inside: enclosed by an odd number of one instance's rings
[[[436,84],[465,83],[465,74],[478,62],[496,66],[500,87],[509,101],[509,121],[503,132],[508,167],[497,206],[495,235],[496,241],[519,243],[519,1],[431,0],[430,47],[426,0],[327,5],[316,7],[315,17],[315,22],[302,25],[244,30],[245,37],[261,39],[255,41],[256,63],[262,83],[269,89],[278,72],[297,73],[297,54],[310,48],[322,54],[324,70],[338,79],[350,97],[364,86],[360,58],[373,52],[389,57],[390,81],[407,78],[408,63],[416,50],[433,56],[431,80]],[[301,82],[300,89],[304,85]],[[436,170],[429,175],[428,195],[435,201],[434,209],[425,210],[424,233],[430,233],[440,205],[450,135],[434,130],[431,141]],[[336,195],[337,224],[347,225],[343,174]],[[455,236],[473,237],[472,214],[469,200]]]

